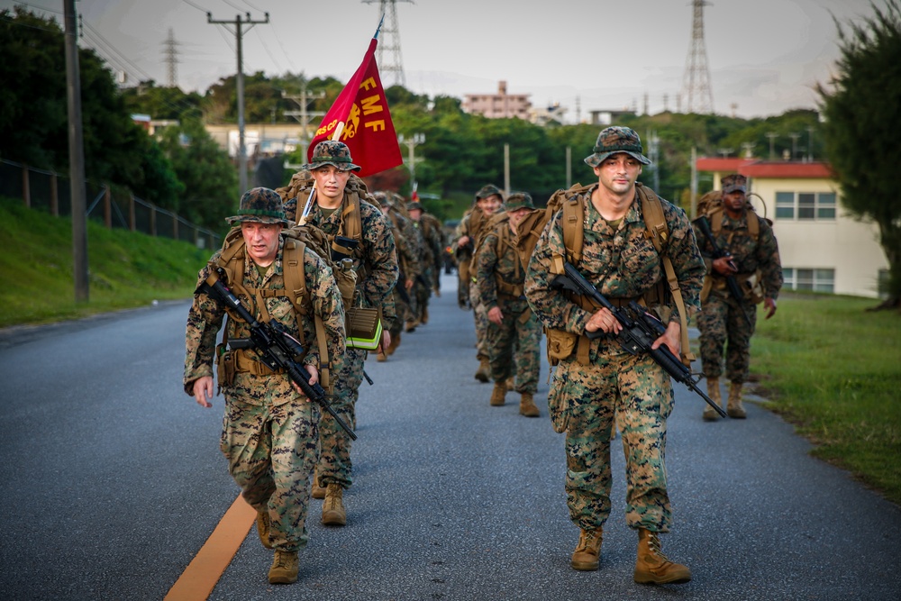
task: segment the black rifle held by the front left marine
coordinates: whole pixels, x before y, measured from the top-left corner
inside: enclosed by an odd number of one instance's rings
[[[291,381],[304,391],[307,398],[325,409],[335,418],[338,425],[350,435],[351,439],[357,440],[357,434],[350,430],[350,426],[344,423],[341,416],[332,409],[332,405],[329,405],[325,389],[319,385],[319,382],[311,385],[310,374],[294,360],[295,357],[304,352],[300,342],[296,341],[281,323],[276,321],[259,323],[254,319],[244,305],[241,305],[241,300],[234,296],[232,291],[222,283],[220,278],[223,275],[224,269],[216,269],[216,273],[206,278],[206,281],[200,287],[197,287],[196,292],[203,292],[207,296],[210,296],[212,293],[214,298],[231,306],[235,313],[241,317],[241,320],[250,326],[250,338],[230,340],[228,341],[229,346],[232,349],[253,349],[257,351],[259,360],[273,371],[285,369],[288,378],[291,378]]]

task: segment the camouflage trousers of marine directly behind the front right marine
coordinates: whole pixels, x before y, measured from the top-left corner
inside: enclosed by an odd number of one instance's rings
[[[503,382],[514,375],[515,369],[516,392],[535,394],[541,369],[542,324],[524,300],[502,304],[501,312],[504,321],[500,325],[489,321],[486,332],[491,379]]]

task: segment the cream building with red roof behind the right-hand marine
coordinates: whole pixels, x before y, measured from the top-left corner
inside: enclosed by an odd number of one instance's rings
[[[751,203],[773,222],[783,290],[878,297],[888,272],[878,227],[842,208],[842,191],[828,164],[699,158],[696,168],[713,174],[715,189],[730,173],[748,178]]]

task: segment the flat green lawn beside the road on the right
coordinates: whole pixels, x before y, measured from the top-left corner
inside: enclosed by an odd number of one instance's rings
[[[751,371],[815,457],[901,504],[901,314],[878,301],[803,295],[758,320]]]

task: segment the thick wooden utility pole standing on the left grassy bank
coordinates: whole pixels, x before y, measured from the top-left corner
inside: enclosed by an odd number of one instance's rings
[[[81,77],[78,73],[78,26],[75,0],[65,0],[66,99],[68,101],[68,181],[72,196],[72,274],[75,302],[88,300],[87,201],[85,191],[85,144],[81,123]]]

